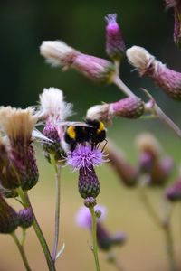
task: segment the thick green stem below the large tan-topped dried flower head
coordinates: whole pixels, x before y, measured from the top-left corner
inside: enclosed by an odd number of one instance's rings
[[[32,205],[31,205],[30,200],[28,198],[27,192],[24,192],[21,187],[17,188],[17,192],[18,192],[21,200],[24,203],[24,207],[25,208],[27,208],[27,207],[32,208]],[[45,240],[45,238],[43,236],[42,229],[40,228],[34,213],[33,213],[33,229],[34,229],[34,231],[36,233],[36,236],[39,239],[39,242],[40,242],[40,244],[41,244],[41,246],[43,248],[44,256],[46,258],[47,265],[49,266],[49,271],[56,271],[55,266],[54,266],[54,262],[52,261],[50,250],[48,248],[46,240]]]

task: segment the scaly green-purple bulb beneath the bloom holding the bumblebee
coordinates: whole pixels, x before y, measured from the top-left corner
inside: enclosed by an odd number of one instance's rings
[[[88,197],[96,198],[99,195],[100,182],[93,167],[80,169],[78,186],[83,199]]]

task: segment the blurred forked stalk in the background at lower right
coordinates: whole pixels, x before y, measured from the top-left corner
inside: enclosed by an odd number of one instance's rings
[[[167,210],[166,206],[166,213],[163,219],[161,219],[157,212],[154,210],[151,202],[148,199],[148,194],[146,192],[146,183],[147,183],[147,177],[146,179],[143,178],[140,180],[140,196],[141,200],[143,201],[143,206],[145,206],[145,209],[148,211],[149,216],[152,218],[152,220],[155,222],[155,224],[163,230],[165,234],[166,239],[166,249],[167,249],[167,256],[169,261],[169,270],[170,271],[176,271],[176,260],[174,255],[174,241],[172,238],[172,232],[171,232],[171,225],[170,225],[170,219],[171,219],[171,210]]]

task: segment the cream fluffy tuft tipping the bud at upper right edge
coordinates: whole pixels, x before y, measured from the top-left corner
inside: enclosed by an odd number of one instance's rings
[[[151,55],[145,48],[132,46],[126,51],[129,63],[139,71],[147,70],[148,66],[155,61],[155,57]]]

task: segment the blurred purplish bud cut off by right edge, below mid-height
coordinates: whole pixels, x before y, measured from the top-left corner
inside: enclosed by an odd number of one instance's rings
[[[167,188],[166,197],[168,201],[181,201],[181,178]]]

